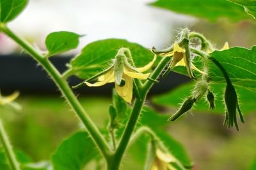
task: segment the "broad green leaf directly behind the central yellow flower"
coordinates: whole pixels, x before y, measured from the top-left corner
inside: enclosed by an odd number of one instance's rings
[[[147,48],[125,39],[104,39],[85,46],[82,52],[71,60],[70,69],[80,78],[90,78],[108,67],[122,47],[131,50],[132,59],[137,67],[145,66],[154,57]]]

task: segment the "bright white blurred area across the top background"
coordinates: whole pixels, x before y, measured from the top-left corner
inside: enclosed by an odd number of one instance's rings
[[[149,0],[30,0],[24,12],[10,23],[13,31],[44,48],[50,32],[86,34],[84,45],[106,38],[122,38],[151,48],[163,48],[172,39],[173,25],[193,24],[194,18],[149,6]],[[175,28],[177,29],[177,28]],[[175,33],[175,32],[174,32]],[[2,38],[3,39],[3,38]],[[14,43],[4,38],[0,53],[10,53]]]

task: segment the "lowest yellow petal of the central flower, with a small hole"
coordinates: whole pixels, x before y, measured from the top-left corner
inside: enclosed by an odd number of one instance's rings
[[[125,101],[127,101],[128,103],[131,103],[131,101],[132,101],[132,78],[125,74],[123,75],[123,78],[125,80],[125,85],[123,87],[120,87],[115,83],[116,92],[119,96],[123,97],[123,99]]]

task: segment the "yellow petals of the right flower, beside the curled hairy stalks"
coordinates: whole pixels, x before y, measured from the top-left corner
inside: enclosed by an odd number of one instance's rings
[[[190,71],[190,63],[189,62],[191,62],[191,61],[188,59],[188,57],[190,57],[190,56],[186,56],[185,48],[180,47],[177,42],[174,43],[172,52],[160,53],[160,55],[163,57],[173,56],[170,69],[173,69],[176,66],[185,66],[188,71],[189,76],[193,76]],[[201,71],[196,66],[194,66],[194,64],[192,62],[191,62],[191,68],[195,69],[195,71],[198,71],[201,74],[205,74],[203,71]]]

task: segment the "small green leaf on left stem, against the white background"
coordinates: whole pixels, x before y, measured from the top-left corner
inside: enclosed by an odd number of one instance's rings
[[[80,37],[74,32],[52,32],[45,39],[45,45],[50,56],[56,55],[77,48]]]

